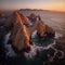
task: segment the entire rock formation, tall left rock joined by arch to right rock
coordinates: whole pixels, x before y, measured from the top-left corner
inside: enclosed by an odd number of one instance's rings
[[[37,17],[36,15],[31,14],[31,18]],[[30,49],[30,36],[31,32],[37,30],[37,35],[40,38],[46,38],[46,35],[54,36],[54,31],[51,27],[46,25],[42,21],[38,21],[35,23],[34,26],[27,27],[26,25],[30,25],[29,20],[20,12],[14,12],[11,16],[9,16],[4,23],[3,27],[11,31],[11,44],[17,51],[23,51],[24,49]]]

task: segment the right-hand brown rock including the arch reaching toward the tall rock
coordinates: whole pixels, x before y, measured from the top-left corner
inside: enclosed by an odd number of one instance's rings
[[[51,27],[49,27],[47,24],[44,24],[43,21],[36,22],[32,27],[28,27],[28,30],[29,30],[30,35],[32,34],[32,31],[37,30],[37,35],[40,38],[55,36],[55,31]]]

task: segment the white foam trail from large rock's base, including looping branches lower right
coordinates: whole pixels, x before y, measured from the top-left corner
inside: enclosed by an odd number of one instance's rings
[[[54,40],[53,43],[50,43],[50,44],[47,46],[47,47],[38,47],[38,46],[34,44],[34,46],[31,46],[31,50],[30,50],[28,53],[25,52],[25,56],[26,56],[27,58],[34,58],[34,57],[36,57],[36,55],[37,55],[37,51],[40,52],[40,51],[43,51],[43,50],[49,50],[49,49],[51,48],[51,49],[53,49],[55,52],[54,52],[53,56],[50,56],[49,61],[50,61],[50,62],[53,62],[54,57],[56,56],[57,52],[60,51],[60,50],[57,50],[57,49],[55,49],[55,48],[53,47],[53,46],[55,46],[55,44],[56,44],[56,43],[55,43],[55,40]],[[62,55],[61,55],[61,56],[57,56],[57,57],[58,57],[58,58],[63,58],[64,55],[65,55],[65,53],[64,53],[63,51],[60,51],[60,52],[62,53]]]

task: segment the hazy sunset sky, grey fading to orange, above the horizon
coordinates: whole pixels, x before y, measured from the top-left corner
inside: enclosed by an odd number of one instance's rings
[[[0,0],[0,10],[42,9],[65,12],[65,0]]]

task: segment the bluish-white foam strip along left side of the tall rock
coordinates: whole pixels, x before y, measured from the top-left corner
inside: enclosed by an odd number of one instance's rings
[[[12,46],[8,44],[8,41],[10,39],[10,35],[11,35],[11,32],[8,32],[4,36],[4,42],[3,43],[4,43],[4,49],[5,49],[5,55],[12,57],[12,56],[16,56],[16,53],[13,51]]]

